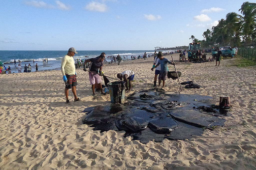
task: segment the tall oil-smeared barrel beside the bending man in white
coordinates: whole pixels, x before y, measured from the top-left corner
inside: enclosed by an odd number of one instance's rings
[[[125,82],[110,82],[107,85],[109,88],[111,103],[124,104],[126,97]]]

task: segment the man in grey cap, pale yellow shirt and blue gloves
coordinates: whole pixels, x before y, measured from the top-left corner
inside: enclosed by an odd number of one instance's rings
[[[68,49],[67,55],[62,58],[61,71],[63,75],[63,81],[65,82],[65,96],[66,103],[69,103],[68,100],[68,89],[71,88],[74,94],[74,101],[79,101],[80,99],[76,95],[76,72],[75,72],[75,61],[73,56],[77,54],[74,47]]]

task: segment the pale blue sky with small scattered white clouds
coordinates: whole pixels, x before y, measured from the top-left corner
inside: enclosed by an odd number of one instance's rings
[[[2,0],[0,50],[155,50],[202,40],[244,0]]]

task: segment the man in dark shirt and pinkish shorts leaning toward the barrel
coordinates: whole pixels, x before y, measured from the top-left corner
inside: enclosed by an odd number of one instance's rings
[[[102,90],[101,77],[100,77],[102,75],[102,67],[104,64],[103,61],[105,59],[105,56],[106,56],[105,53],[101,53],[100,56],[96,58],[87,59],[85,60],[85,63],[84,63],[84,65],[86,65],[87,62],[92,62],[91,68],[89,69],[89,79],[92,85],[93,96],[96,96],[96,93],[95,93],[96,84],[99,87],[101,94],[105,94]],[[86,69],[84,69],[84,71],[86,71]]]

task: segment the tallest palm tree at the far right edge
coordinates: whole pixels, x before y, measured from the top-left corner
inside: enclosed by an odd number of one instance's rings
[[[256,3],[244,2],[239,9],[243,14],[242,31],[246,46],[254,41],[256,31]]]

